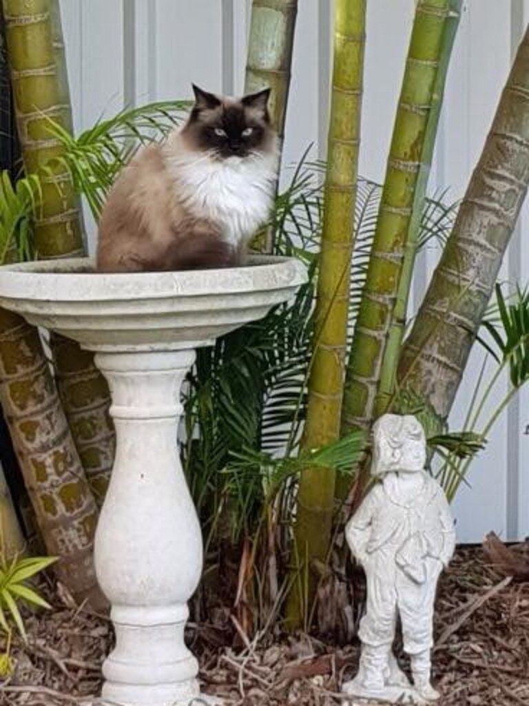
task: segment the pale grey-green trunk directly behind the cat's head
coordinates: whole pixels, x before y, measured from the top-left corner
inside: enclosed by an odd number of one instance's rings
[[[285,133],[296,15],[297,0],[253,0],[251,4],[244,92],[272,89],[271,120],[281,145]],[[258,233],[252,246],[261,252],[271,252],[272,229]]]

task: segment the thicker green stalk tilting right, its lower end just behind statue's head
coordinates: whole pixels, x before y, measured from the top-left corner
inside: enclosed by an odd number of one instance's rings
[[[368,429],[398,294],[450,0],[419,0],[367,280],[347,364],[342,429]]]

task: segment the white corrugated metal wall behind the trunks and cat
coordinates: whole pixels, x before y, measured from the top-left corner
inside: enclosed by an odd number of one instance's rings
[[[384,176],[414,6],[415,0],[368,0],[360,170],[377,181]],[[249,0],[61,0],[76,128],[124,105],[189,98],[191,81],[239,93],[249,8]],[[309,143],[324,156],[331,17],[331,0],[299,0],[284,164],[298,160]],[[529,0],[465,3],[430,191],[449,187],[450,198],[462,195],[528,20]],[[527,227],[526,207],[502,275],[524,285]],[[414,306],[435,259],[434,251],[420,256]],[[464,417],[481,359],[476,350],[453,413],[454,428]],[[468,480],[470,487],[462,487],[455,503],[460,540],[480,541],[489,530],[509,539],[529,534],[529,389],[498,422]]]

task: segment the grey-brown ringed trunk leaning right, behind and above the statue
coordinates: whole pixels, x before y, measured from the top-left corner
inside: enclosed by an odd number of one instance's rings
[[[400,357],[398,382],[441,417],[456,395],[529,184],[529,29]]]

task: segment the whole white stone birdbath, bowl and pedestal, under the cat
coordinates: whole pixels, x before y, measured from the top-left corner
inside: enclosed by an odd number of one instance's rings
[[[262,318],[306,280],[299,261],[266,256],[178,273],[99,274],[89,258],[0,268],[0,306],[95,351],[112,395],[117,451],[95,537],[116,631],[103,702],[201,702],[184,644],[203,558],[177,448],[182,381],[197,347]]]

